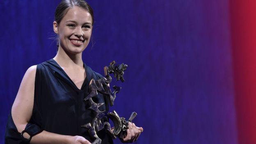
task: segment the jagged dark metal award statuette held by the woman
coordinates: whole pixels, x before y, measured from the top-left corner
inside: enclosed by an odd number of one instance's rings
[[[101,111],[98,108],[103,105],[104,103],[95,103],[92,98],[94,96],[98,95],[98,92],[103,94],[107,97],[107,103],[110,103],[110,106],[114,105],[114,99],[116,98],[116,94],[121,90],[121,87],[113,86],[114,92],[111,91],[109,87],[109,83],[112,81],[112,78],[110,77],[110,73],[114,73],[114,77],[117,80],[121,80],[121,82],[124,82],[123,74],[124,71],[127,68],[126,64],[120,64],[118,66],[115,66],[116,62],[113,61],[110,63],[109,66],[104,67],[105,77],[98,80],[92,79],[89,85],[90,94],[84,99],[85,101],[89,101],[91,107],[89,107],[91,110],[94,110],[96,115],[94,116],[94,119],[91,121],[91,123],[87,123],[83,125],[83,128],[87,128],[91,137],[95,138],[94,142],[92,144],[101,144],[101,139],[98,137],[97,132],[102,130],[104,127],[107,128],[107,132],[112,136],[113,139],[118,137],[125,137],[126,136],[126,130],[128,129],[128,122],[131,122],[137,115],[136,112],[133,112],[130,116],[130,118],[126,121],[125,118],[119,117],[117,112],[107,112],[107,111]],[[108,118],[113,121],[114,123],[114,129],[110,129],[110,123],[107,121],[102,121],[103,118]]]

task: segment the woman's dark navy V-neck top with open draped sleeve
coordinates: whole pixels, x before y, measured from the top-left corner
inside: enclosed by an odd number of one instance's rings
[[[93,142],[94,139],[90,137],[88,130],[81,127],[90,123],[94,117],[94,111],[89,109],[90,105],[88,101],[84,101],[84,98],[89,95],[90,80],[98,80],[103,76],[92,71],[85,64],[84,67],[86,78],[81,89],[78,89],[54,59],[37,65],[34,107],[30,123],[51,133],[80,135]],[[107,101],[101,94],[93,100],[96,103]],[[100,110],[108,110],[108,105],[102,105]],[[23,144],[20,135],[9,114],[5,143]],[[113,144],[112,138],[105,129],[99,131],[97,135],[102,140],[101,144]]]

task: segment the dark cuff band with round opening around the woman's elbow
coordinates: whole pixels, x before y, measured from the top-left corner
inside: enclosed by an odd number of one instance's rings
[[[21,138],[24,142],[27,142],[29,143],[31,138],[34,136],[34,135],[37,135],[39,133],[41,133],[43,131],[43,129],[36,125],[36,124],[32,124],[32,123],[27,123],[27,126],[25,128],[25,130],[23,130],[21,132]],[[24,133],[27,133],[28,135],[30,135],[30,138],[29,139],[26,139],[25,137],[23,137],[23,134]]]

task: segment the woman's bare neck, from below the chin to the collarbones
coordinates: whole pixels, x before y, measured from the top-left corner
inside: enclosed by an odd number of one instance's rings
[[[59,48],[56,56],[53,59],[62,67],[83,67],[82,53],[67,54],[62,48]]]

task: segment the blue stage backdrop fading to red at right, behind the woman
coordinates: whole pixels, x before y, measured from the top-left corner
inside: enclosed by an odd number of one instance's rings
[[[25,71],[56,54],[59,1],[0,2],[1,144]],[[136,144],[256,143],[254,0],[88,2],[95,25],[83,60],[101,74],[112,60],[128,64],[112,109],[138,113]]]

